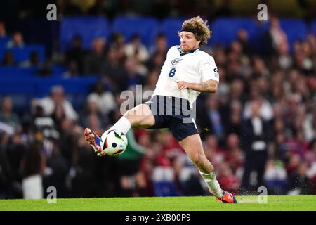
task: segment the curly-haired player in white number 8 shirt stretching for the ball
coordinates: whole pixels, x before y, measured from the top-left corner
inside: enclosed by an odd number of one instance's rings
[[[169,49],[150,101],[128,110],[110,129],[126,134],[131,127],[168,127],[199,169],[209,191],[217,200],[236,203],[232,193],[220,188],[214,167],[204,155],[202,141],[192,117],[192,105],[200,92],[215,93],[219,82],[213,57],[199,49],[211,37],[206,22],[199,16],[183,22],[182,30],[178,32],[180,46]],[[105,155],[100,147],[100,136],[88,128],[84,134],[97,155]]]

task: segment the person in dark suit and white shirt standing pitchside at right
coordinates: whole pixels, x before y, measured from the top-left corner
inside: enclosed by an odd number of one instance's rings
[[[251,101],[251,117],[242,124],[242,146],[245,152],[244,174],[242,177],[242,191],[264,186],[263,175],[265,163],[268,160],[268,141],[270,127],[260,114],[260,103]],[[251,187],[250,174],[257,174],[256,186]]]

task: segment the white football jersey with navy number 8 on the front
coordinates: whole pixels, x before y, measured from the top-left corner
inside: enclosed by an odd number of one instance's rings
[[[209,79],[219,82],[218,69],[212,56],[199,49],[181,53],[180,46],[172,46],[166,55],[153,96],[185,98],[192,108],[200,92],[189,89],[180,91],[177,81],[201,83]]]

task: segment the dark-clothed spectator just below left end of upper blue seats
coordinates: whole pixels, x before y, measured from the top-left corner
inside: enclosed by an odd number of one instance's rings
[[[79,74],[84,73],[84,56],[86,52],[82,48],[81,36],[76,35],[72,39],[72,45],[65,52],[65,64],[67,68],[77,67]],[[75,65],[74,65],[75,64]]]

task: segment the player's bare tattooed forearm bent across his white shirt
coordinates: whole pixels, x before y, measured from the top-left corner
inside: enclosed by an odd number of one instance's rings
[[[191,89],[199,92],[209,92],[209,93],[215,93],[217,91],[218,81],[209,79],[205,82],[201,83],[189,83],[189,82],[177,82],[178,89],[184,90],[184,89]]]

